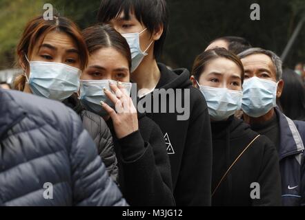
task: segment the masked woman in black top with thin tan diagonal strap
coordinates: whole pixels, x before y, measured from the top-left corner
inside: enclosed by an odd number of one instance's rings
[[[213,135],[213,206],[280,206],[277,152],[235,111],[242,105],[244,67],[224,48],[197,56],[191,76],[208,104]]]

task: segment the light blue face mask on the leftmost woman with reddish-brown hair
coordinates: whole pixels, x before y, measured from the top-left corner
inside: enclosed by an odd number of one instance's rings
[[[32,93],[62,102],[79,90],[81,70],[63,63],[30,61],[26,76]]]

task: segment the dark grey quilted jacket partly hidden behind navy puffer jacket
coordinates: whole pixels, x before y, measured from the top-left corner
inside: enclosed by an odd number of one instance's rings
[[[112,135],[105,120],[95,113],[86,111],[75,95],[64,100],[63,104],[73,109],[81,117],[83,127],[94,140],[99,156],[104,162],[109,175],[117,183],[119,176],[117,157],[115,155]]]

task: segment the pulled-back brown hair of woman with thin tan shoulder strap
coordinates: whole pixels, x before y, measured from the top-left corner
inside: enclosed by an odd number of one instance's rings
[[[206,52],[202,52],[199,54],[199,56],[197,56],[191,74],[195,77],[195,80],[199,80],[201,74],[206,68],[207,63],[214,60],[215,58],[227,58],[228,60],[236,63],[242,72],[242,83],[244,83],[244,66],[242,65],[242,61],[240,61],[239,58],[232,52],[229,52],[228,50],[220,47],[217,47],[213,50],[207,50]]]

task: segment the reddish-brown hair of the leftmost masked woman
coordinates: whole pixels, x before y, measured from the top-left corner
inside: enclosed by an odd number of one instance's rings
[[[26,67],[26,69],[24,69],[25,71],[30,68],[28,61],[26,60],[26,56],[29,57],[34,50],[35,45],[37,45],[37,43],[43,43],[43,39],[46,37],[46,35],[54,30],[66,33],[72,37],[79,49],[81,61],[80,69],[85,69],[88,63],[88,51],[81,36],[81,30],[79,30],[77,25],[70,21],[70,19],[55,15],[52,20],[45,20],[43,19],[43,16],[35,17],[35,19],[29,21],[26,25],[26,28],[23,31],[21,39],[17,45],[17,58],[18,61],[21,62],[24,67]],[[26,76],[22,74],[14,81],[14,89],[22,91],[25,84]]]

